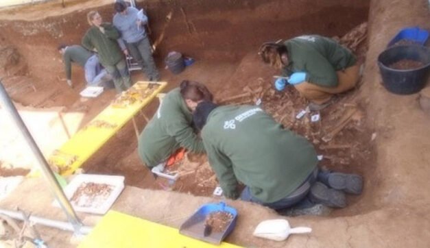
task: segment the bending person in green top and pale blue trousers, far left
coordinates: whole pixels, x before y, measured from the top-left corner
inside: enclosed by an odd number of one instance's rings
[[[58,51],[62,54],[64,71],[66,72],[67,84],[73,88],[71,81],[71,63],[75,62],[82,66],[85,71],[86,83],[98,86],[112,80],[106,70],[101,66],[97,54],[91,53],[80,45],[59,45]]]

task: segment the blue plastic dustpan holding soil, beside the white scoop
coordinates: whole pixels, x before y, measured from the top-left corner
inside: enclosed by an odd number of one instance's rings
[[[233,219],[228,224],[226,230],[224,232],[211,232],[208,236],[204,236],[204,221],[206,220],[206,216],[211,214],[211,212],[229,212],[232,214]],[[235,229],[237,220],[237,210],[230,206],[227,206],[226,203],[207,203],[202,205],[193,215],[185,221],[179,229],[180,234],[184,234],[186,236],[190,236],[191,238],[197,238],[198,240],[202,240],[208,243],[213,243],[215,245],[219,245],[228,234]]]

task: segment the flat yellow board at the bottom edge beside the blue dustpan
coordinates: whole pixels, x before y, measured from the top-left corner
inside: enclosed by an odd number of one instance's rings
[[[179,234],[172,227],[145,221],[121,212],[109,211],[78,248],[240,248],[221,243],[212,245]]]

